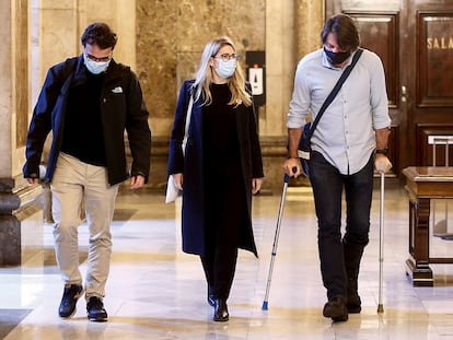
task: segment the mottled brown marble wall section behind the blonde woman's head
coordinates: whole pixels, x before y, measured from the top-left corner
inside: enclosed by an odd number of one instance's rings
[[[137,0],[137,69],[155,134],[170,134],[182,81],[194,77],[206,43],[221,35],[244,57],[264,50],[265,0]]]

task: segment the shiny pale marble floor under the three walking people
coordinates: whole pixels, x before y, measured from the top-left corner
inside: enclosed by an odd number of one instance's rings
[[[378,313],[379,190],[359,279],[362,313],[334,324],[322,315],[326,296],[310,187],[288,190],[268,309],[263,310],[280,194],[254,198],[259,259],[240,253],[229,300],[230,321],[212,321],[199,259],[181,251],[181,202],[165,204],[162,196],[124,190],[112,226],[114,253],[105,297],[108,323],[88,321],[83,298],[72,318],[58,317],[62,283],[54,259],[51,225],[45,224],[44,246],[35,258],[19,268],[0,268],[0,338],[453,339],[453,265],[431,266],[433,288],[413,286],[405,271],[408,202],[398,184],[385,191],[383,313]],[[80,245],[84,271],[85,225],[80,227]],[[453,254],[452,245],[431,237],[433,253]]]

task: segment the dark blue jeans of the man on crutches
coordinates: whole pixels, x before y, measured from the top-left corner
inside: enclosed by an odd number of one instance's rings
[[[341,242],[341,198],[345,189],[346,230],[344,242],[364,247],[369,242],[373,195],[373,155],[353,175],[341,175],[318,152],[312,152],[310,180],[318,223],[317,243],[321,273],[327,298],[347,298],[347,275]]]

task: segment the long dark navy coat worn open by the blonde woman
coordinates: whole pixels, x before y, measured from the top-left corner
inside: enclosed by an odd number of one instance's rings
[[[169,152],[169,175],[184,174],[183,190],[183,251],[205,255],[205,183],[204,183],[204,145],[202,145],[202,108],[195,102],[191,109],[189,133],[185,150],[182,151],[187,107],[193,90],[194,80],[185,81],[181,87],[176,105],[175,119],[172,129]],[[235,109],[239,145],[241,150],[241,165],[244,176],[244,187],[248,219],[241,225],[242,239],[240,248],[257,256],[252,230],[252,178],[262,178],[263,160],[259,139],[256,128],[254,106],[239,105]],[[222,180],[222,178],[219,178]],[[219,192],[222,195],[222,192]]]

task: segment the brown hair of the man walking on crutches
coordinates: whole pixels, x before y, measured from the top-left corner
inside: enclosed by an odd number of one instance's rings
[[[360,45],[359,31],[349,15],[336,14],[330,16],[321,32],[323,45],[327,42],[327,35],[332,33],[337,39],[338,47],[352,51]]]

